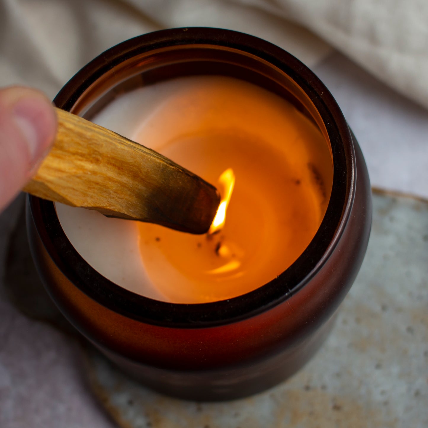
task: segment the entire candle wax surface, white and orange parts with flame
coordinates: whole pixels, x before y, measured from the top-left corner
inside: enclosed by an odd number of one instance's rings
[[[231,77],[180,77],[118,95],[95,119],[223,196],[204,235],[56,204],[78,253],[127,290],[174,303],[231,299],[280,275],[321,224],[333,183],[330,145],[308,112],[273,92]]]

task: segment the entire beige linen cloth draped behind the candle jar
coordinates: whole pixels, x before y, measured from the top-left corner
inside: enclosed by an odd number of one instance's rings
[[[0,85],[27,83],[53,97],[116,43],[166,27],[212,26],[267,39],[309,66],[329,52],[323,39],[428,107],[426,0],[2,1]]]

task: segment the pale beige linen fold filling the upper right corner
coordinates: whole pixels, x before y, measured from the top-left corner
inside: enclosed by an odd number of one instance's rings
[[[427,0],[237,0],[309,28],[428,107]]]

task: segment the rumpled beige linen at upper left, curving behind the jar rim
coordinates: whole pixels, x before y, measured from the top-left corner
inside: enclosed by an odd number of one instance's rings
[[[330,47],[283,18],[221,1],[3,0],[0,86],[23,83],[53,98],[83,65],[123,40],[167,27],[211,26],[254,34],[309,66]]]

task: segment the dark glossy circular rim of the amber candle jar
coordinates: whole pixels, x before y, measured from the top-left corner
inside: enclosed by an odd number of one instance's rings
[[[53,202],[29,195],[30,212],[49,256],[81,291],[128,318],[163,327],[214,327],[250,318],[287,300],[321,269],[339,241],[355,195],[354,145],[345,118],[324,84],[290,53],[265,40],[206,27],[175,28],[129,39],[101,53],[61,89],[54,103],[70,110],[79,96],[106,71],[138,53],[173,45],[234,48],[263,59],[288,74],[320,114],[333,155],[333,186],[324,219],[297,260],[275,279],[241,296],[210,303],[168,303],[141,296],[111,282],[74,249],[62,230]]]

